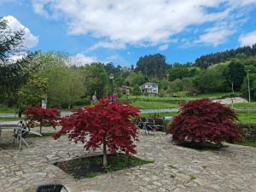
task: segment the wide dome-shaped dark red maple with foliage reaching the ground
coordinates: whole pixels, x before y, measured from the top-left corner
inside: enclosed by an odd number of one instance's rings
[[[182,106],[167,134],[172,134],[177,144],[236,143],[241,141],[236,120],[235,111],[221,103],[209,99],[191,101]]]

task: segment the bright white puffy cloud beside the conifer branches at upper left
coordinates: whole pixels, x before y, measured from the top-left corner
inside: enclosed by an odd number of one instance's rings
[[[23,26],[19,20],[17,20],[14,16],[8,15],[4,16],[3,20],[6,20],[8,23],[8,27],[12,31],[20,31],[24,30],[24,36],[22,45],[26,48],[32,48],[38,45],[38,37],[34,36],[32,32],[30,32],[29,28]]]

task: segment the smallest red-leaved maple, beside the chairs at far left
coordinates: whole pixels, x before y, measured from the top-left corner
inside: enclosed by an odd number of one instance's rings
[[[42,132],[42,126],[45,124],[49,124],[55,128],[58,125],[58,120],[61,118],[60,111],[55,108],[28,107],[24,114],[28,125],[34,126],[36,122],[39,122],[40,133]]]

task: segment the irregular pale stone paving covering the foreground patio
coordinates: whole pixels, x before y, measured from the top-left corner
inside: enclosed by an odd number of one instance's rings
[[[0,191],[35,191],[41,183],[63,183],[71,191],[101,192],[255,192],[256,148],[230,145],[219,151],[178,147],[171,138],[140,135],[137,157],[154,164],[137,166],[94,178],[74,180],[53,163],[97,152],[81,144],[30,137],[31,148],[15,150],[11,132],[0,143]]]

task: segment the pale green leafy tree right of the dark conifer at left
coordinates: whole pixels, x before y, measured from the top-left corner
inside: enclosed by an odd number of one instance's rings
[[[72,108],[85,95],[83,76],[79,68],[67,67],[65,55],[40,54],[36,62],[40,66],[38,75],[48,81],[46,95],[50,107]]]

